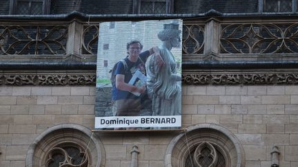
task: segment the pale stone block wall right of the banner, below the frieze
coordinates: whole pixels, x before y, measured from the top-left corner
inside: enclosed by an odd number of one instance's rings
[[[183,126],[221,124],[239,138],[246,166],[270,166],[272,146],[280,166],[298,165],[297,86],[183,87]]]

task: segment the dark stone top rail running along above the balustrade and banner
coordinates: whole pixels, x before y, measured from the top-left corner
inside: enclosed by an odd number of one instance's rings
[[[14,15],[0,14],[0,20],[26,20],[26,21],[65,21],[79,19],[81,21],[126,21],[126,20],[148,20],[148,19],[194,19],[206,17],[297,17],[297,12],[251,12],[251,13],[221,13],[217,10],[209,10],[204,13],[195,14],[86,14],[72,11],[68,14],[42,14],[42,15]]]

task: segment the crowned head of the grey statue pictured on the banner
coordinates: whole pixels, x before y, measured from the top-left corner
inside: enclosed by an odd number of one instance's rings
[[[169,41],[172,47],[180,47],[180,34],[178,23],[163,24],[163,30],[157,34],[161,41]]]

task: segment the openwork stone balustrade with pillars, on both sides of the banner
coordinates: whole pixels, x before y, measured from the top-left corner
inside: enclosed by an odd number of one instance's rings
[[[95,62],[99,22],[0,21],[0,58],[77,58]],[[219,16],[184,19],[183,58],[295,60],[297,30],[297,20],[293,19],[244,16],[237,20]]]

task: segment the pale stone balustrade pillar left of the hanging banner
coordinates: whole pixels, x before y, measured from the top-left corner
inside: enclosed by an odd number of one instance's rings
[[[66,44],[66,54],[68,56],[80,56],[82,47],[83,25],[77,21],[70,23],[68,27],[68,41]]]

